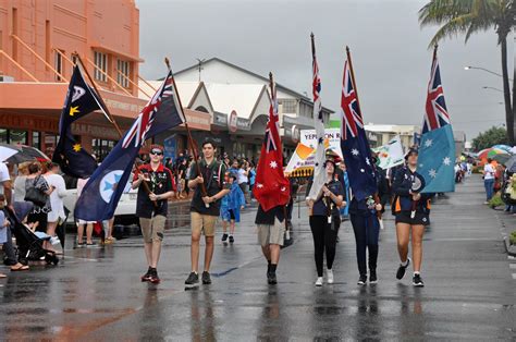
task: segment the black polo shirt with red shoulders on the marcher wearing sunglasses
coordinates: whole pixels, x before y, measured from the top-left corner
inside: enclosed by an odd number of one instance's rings
[[[156,195],[175,191],[175,183],[172,172],[168,168],[163,167],[162,163],[159,164],[156,171],[152,170],[150,163],[143,164],[138,168],[133,181],[138,180],[139,172],[143,172],[145,178],[150,180],[147,182],[147,184],[149,185],[149,190]],[[157,215],[167,216],[167,210],[169,208],[168,201],[168,199],[159,199],[156,201],[157,205],[155,205],[150,200],[149,194],[145,190],[145,185],[142,183],[138,187],[138,197],[136,199],[136,216],[147,219],[150,219]]]

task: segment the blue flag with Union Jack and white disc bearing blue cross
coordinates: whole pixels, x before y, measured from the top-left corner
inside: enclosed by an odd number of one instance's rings
[[[75,205],[74,216],[86,221],[101,221],[113,217],[127,184],[133,164],[144,142],[185,122],[179,105],[172,72],[142,110],[133,126],[84,186]]]

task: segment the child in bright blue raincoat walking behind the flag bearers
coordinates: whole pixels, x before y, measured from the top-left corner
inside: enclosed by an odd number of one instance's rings
[[[222,243],[230,244],[235,242],[235,223],[241,221],[241,209],[245,208],[245,198],[242,188],[236,183],[237,175],[234,173],[226,173],[226,182],[231,190],[228,195],[222,198],[220,206],[220,218],[222,219]],[[230,224],[230,235],[228,235],[228,223]]]

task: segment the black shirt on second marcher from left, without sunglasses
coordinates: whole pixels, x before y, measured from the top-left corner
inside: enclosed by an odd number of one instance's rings
[[[225,182],[225,164],[213,159],[210,164],[206,163],[202,159],[199,163],[200,173],[205,180],[205,187],[208,196],[217,195],[223,188],[230,188],[230,184]],[[197,166],[194,162],[191,168],[188,180],[195,180],[199,175]],[[195,188],[194,198],[192,198],[191,211],[199,212],[201,215],[219,216],[220,215],[220,198],[213,203],[210,203],[210,207],[206,208],[205,201],[202,200],[202,194],[200,192],[200,184],[197,184]]]

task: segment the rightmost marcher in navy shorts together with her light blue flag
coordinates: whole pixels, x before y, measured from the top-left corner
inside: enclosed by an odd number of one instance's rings
[[[430,194],[455,190],[455,141],[444,100],[438,47],[433,50],[428,83],[426,113],[419,150],[411,149],[406,157],[407,167],[400,170],[393,190],[400,199],[396,212],[397,245],[401,265],[396,278],[402,279],[408,267],[408,236],[411,228],[415,286],[425,286],[421,278],[422,236],[429,222]],[[408,216],[410,213],[410,216]]]

